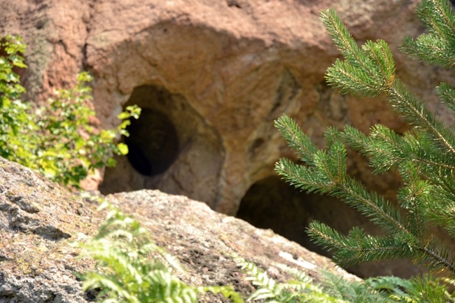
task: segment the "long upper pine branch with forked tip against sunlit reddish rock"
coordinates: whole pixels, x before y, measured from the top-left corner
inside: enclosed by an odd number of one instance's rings
[[[453,132],[396,78],[393,56],[387,43],[381,40],[367,41],[361,49],[358,48],[332,8],[321,13],[321,20],[344,57],[344,61],[337,59],[328,68],[328,83],[338,87],[342,93],[358,94],[361,97],[386,94],[393,109],[406,122],[427,129],[437,141],[455,154]]]

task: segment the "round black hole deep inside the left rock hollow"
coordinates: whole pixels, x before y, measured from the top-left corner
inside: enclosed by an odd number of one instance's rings
[[[134,103],[134,99],[130,101]],[[130,136],[123,138],[129,149],[127,159],[139,174],[161,174],[176,160],[179,140],[174,124],[165,113],[142,108],[139,119],[131,119],[127,131]]]

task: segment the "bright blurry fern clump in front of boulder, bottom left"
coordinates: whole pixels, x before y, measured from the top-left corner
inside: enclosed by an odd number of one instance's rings
[[[82,255],[97,260],[96,272],[78,274],[83,290],[100,289],[99,302],[198,302],[207,292],[221,293],[232,302],[244,302],[232,287],[188,286],[172,269],[184,273],[176,258],[153,244],[137,220],[109,207],[99,232],[84,244]]]

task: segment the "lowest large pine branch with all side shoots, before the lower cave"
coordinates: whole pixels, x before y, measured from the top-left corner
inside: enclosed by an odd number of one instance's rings
[[[288,117],[282,118],[280,123],[283,135],[288,138],[297,138],[297,134],[301,132]],[[341,133],[336,129],[328,129],[325,134],[327,150],[317,150],[314,155],[306,154],[311,157],[311,166],[305,167],[281,159],[276,164],[276,171],[297,188],[339,197],[363,215],[370,217],[373,223],[383,227],[389,234],[393,234],[393,237],[370,237],[353,230],[352,234],[345,238],[324,225],[310,225],[309,234],[325,248],[336,249],[335,258],[342,265],[386,258],[414,258],[437,266],[449,265],[449,259],[444,254],[437,253],[419,241],[425,241],[424,222],[428,220],[428,195],[433,192],[433,185],[421,180],[419,170],[411,161],[400,163],[405,186],[400,192],[399,201],[402,207],[409,211],[407,216],[410,215],[412,220],[402,218],[399,211],[384,198],[375,192],[368,192],[362,184],[346,174],[346,149],[340,137]],[[309,141],[305,142],[308,144]],[[307,146],[303,148],[308,150]],[[447,268],[451,270],[451,267]]]

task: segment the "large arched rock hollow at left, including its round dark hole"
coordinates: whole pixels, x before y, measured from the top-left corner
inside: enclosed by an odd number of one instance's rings
[[[157,189],[214,206],[224,163],[216,129],[183,94],[160,85],[135,87],[123,106],[131,105],[142,111],[122,138],[130,153],[114,155],[117,165],[106,167],[99,191]]]

